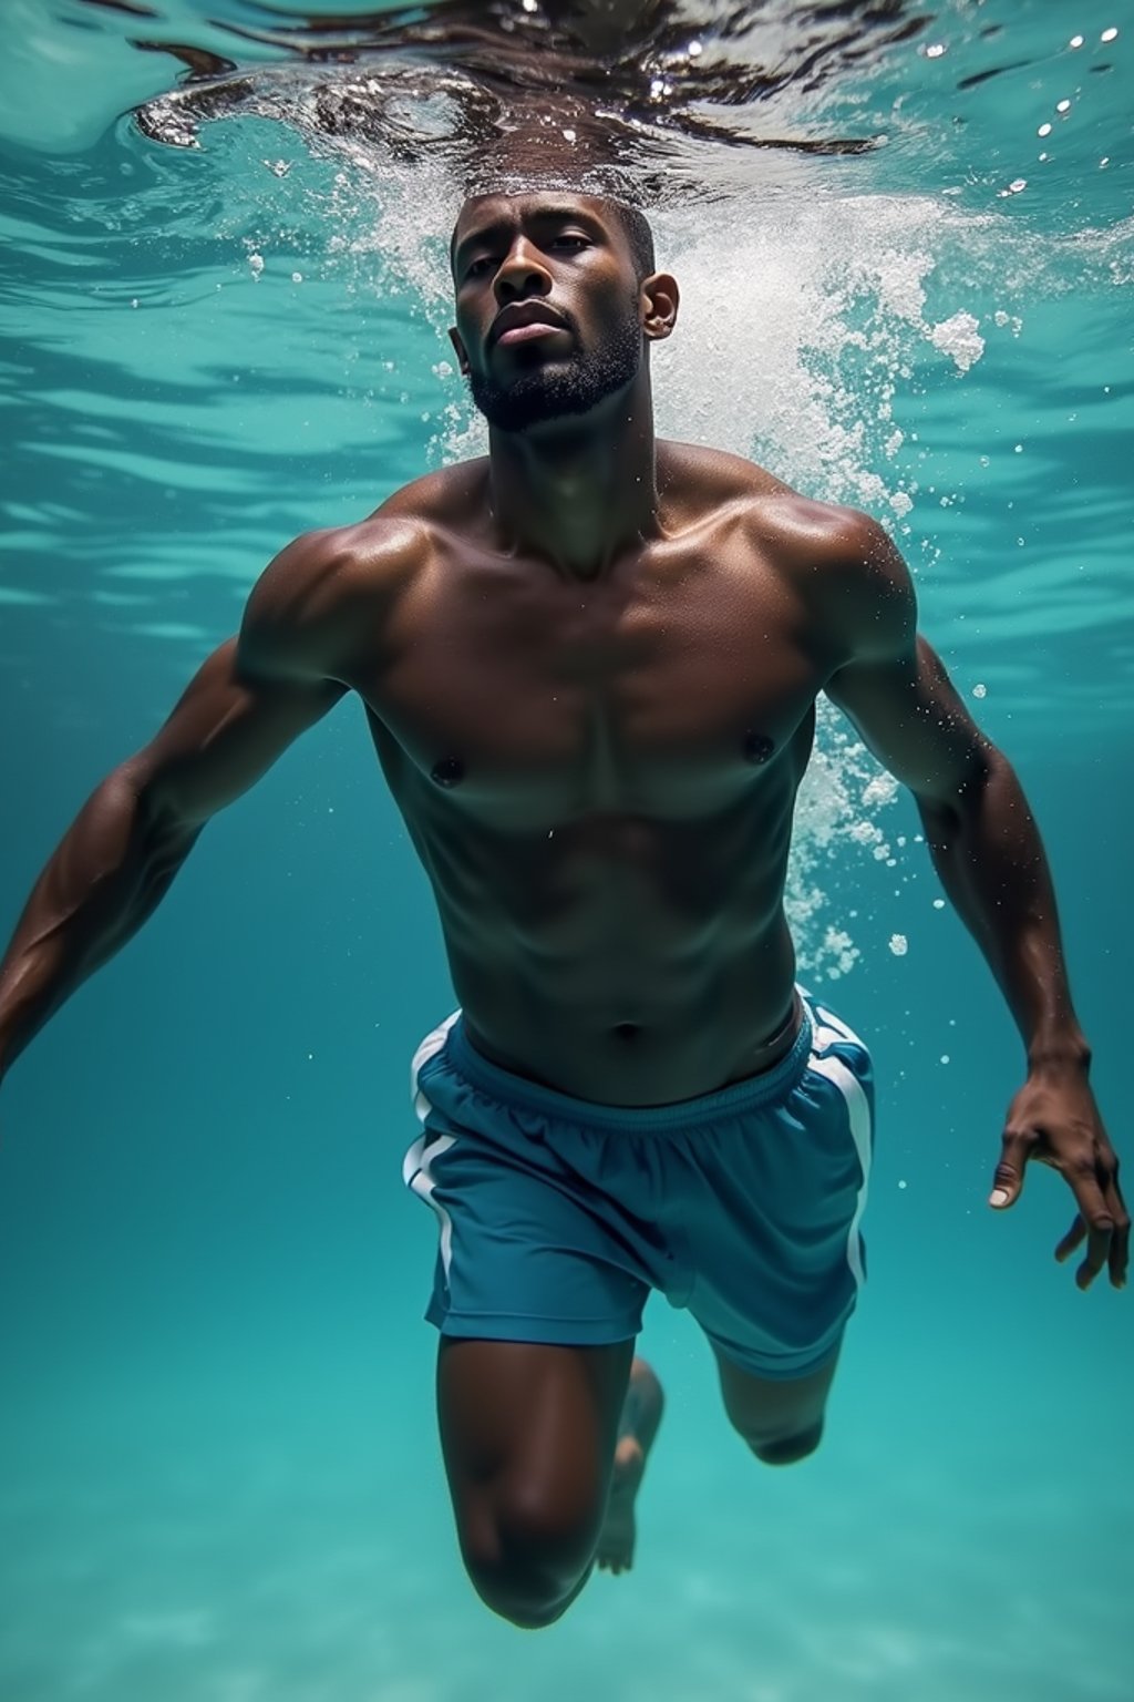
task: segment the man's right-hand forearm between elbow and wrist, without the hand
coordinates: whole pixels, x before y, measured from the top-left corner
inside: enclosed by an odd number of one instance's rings
[[[988,960],[1029,1060],[1083,1062],[1047,856],[1015,771],[996,751],[950,805],[918,800],[933,863]]]

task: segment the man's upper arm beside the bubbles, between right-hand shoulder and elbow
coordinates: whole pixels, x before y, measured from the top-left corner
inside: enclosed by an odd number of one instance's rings
[[[908,655],[852,662],[828,681],[826,693],[920,802],[955,802],[988,771],[993,747],[923,638]]]

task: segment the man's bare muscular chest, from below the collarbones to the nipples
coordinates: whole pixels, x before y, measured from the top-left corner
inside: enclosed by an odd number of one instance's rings
[[[762,563],[665,567],[454,574],[400,611],[362,694],[413,769],[469,805],[517,790],[644,814],[724,803],[809,725],[806,616]]]

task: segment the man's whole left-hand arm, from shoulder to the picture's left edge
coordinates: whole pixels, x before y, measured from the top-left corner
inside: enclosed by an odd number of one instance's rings
[[[153,912],[209,817],[343,696],[333,665],[345,560],[333,533],[284,550],[240,637],[214,650],[156,737],[87,800],[0,962],[0,1079]]]

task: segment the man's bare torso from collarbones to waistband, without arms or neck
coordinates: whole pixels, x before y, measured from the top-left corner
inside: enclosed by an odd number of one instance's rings
[[[677,444],[658,468],[665,536],[590,584],[500,551],[486,466],[408,492],[420,562],[349,669],[471,1038],[614,1105],[750,1074],[789,1018],[792,803],[836,654],[758,536],[760,477]]]

